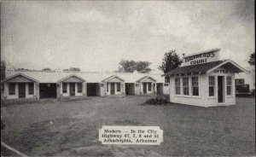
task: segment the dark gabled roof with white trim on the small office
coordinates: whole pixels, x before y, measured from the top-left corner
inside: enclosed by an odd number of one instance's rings
[[[172,71],[165,73],[163,76],[178,75],[178,74],[189,74],[189,73],[211,73],[218,67],[225,67],[233,71],[234,73],[247,73],[247,71],[237,65],[234,61],[223,60],[223,61],[212,61],[204,64],[197,64],[192,66],[177,67]]]

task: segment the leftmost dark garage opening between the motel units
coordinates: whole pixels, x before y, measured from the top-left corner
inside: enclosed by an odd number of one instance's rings
[[[40,99],[57,97],[56,84],[39,84],[39,91],[40,91]]]

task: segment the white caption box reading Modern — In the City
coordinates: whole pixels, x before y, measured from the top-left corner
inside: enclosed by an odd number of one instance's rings
[[[99,130],[102,144],[160,145],[163,130],[159,126],[102,126]]]

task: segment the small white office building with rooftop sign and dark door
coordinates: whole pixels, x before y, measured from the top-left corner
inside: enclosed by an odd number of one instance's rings
[[[236,62],[218,60],[220,49],[183,57],[170,76],[170,102],[200,107],[236,104],[235,73],[247,73]]]

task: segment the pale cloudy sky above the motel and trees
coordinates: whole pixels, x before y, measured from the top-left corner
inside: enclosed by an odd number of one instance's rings
[[[119,61],[220,48],[248,67],[254,1],[2,1],[1,60],[15,68],[111,72]]]

